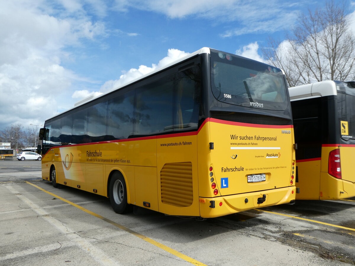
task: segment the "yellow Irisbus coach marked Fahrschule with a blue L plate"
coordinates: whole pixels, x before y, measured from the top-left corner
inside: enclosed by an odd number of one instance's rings
[[[282,70],[202,48],[45,121],[42,178],[121,214],[218,217],[293,203]]]

